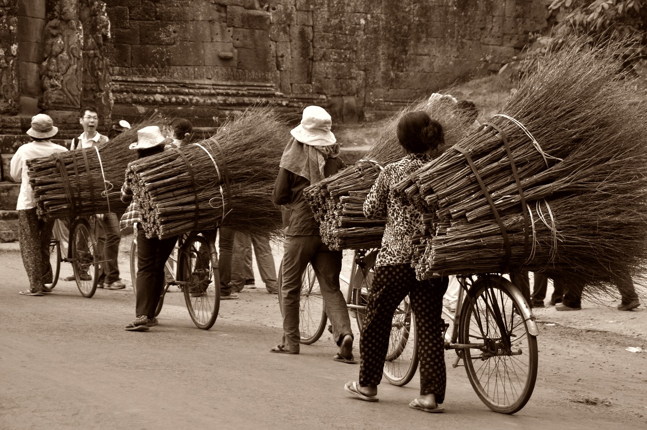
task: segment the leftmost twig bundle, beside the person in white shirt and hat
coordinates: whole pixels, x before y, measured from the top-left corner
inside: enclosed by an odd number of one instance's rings
[[[77,215],[122,212],[120,200],[124,172],[137,153],[128,147],[137,142],[137,130],[164,126],[159,117],[149,117],[104,144],[61,152],[27,161],[30,184],[41,218],[71,218]]]

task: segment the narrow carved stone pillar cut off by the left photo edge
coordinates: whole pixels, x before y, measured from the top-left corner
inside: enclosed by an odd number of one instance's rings
[[[0,0],[0,114],[3,115],[18,113],[17,9],[17,0]]]

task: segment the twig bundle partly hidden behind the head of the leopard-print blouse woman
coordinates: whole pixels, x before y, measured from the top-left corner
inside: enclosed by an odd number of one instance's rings
[[[445,145],[432,155],[442,153],[459,141],[473,122],[465,111],[457,109],[454,102],[445,98],[411,104],[389,122],[363,159],[306,188],[303,192],[305,199],[319,222],[323,242],[331,249],[380,246],[386,220],[367,220],[362,205],[377,179],[380,166],[404,156],[396,135],[397,123],[402,115],[411,111],[426,111],[443,125]]]

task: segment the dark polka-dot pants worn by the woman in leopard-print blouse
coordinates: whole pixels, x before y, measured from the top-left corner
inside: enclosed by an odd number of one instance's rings
[[[443,339],[443,295],[448,277],[419,281],[408,264],[375,267],[360,339],[360,386],[378,385],[389,346],[393,312],[409,294],[415,314],[420,358],[420,394],[435,394],[443,403],[446,387]]]

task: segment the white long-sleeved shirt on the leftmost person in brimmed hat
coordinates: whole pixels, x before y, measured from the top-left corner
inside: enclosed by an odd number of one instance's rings
[[[14,181],[20,182],[20,192],[16,210],[32,209],[36,207],[34,190],[29,185],[27,174],[27,160],[32,158],[47,157],[54,152],[65,152],[65,146],[57,145],[50,141],[34,141],[23,144],[11,159],[10,170]]]

